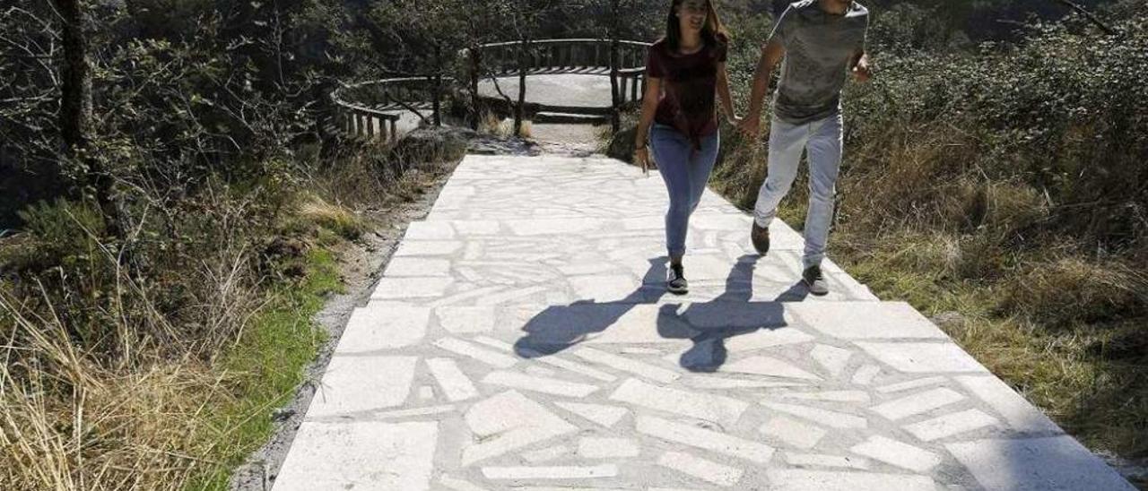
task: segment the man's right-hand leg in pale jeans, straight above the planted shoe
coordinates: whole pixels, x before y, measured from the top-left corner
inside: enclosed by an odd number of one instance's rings
[[[833,217],[833,189],[841,166],[841,116],[814,123],[808,142],[809,211],[805,218],[805,268],[820,266]]]

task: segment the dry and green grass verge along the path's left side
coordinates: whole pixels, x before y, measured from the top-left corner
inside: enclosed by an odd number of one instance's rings
[[[310,319],[340,288],[326,249],[463,150],[430,139],[311,155],[305,186],[258,203],[216,193],[170,213],[179,243],[132,256],[83,206],[39,210],[0,242],[0,489],[225,489],[324,342]],[[414,157],[429,162],[400,161]],[[281,212],[245,219],[267,209]]]

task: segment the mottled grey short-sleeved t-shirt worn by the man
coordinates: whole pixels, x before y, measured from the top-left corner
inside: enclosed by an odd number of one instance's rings
[[[829,14],[817,0],[791,3],[777,18],[771,41],[785,48],[774,96],[778,118],[804,124],[840,111],[847,65],[864,48],[869,10],[853,2],[845,15]]]

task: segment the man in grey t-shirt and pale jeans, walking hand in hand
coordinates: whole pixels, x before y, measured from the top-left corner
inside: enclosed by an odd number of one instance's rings
[[[833,187],[841,163],[841,87],[851,72],[869,79],[864,53],[869,10],[851,0],[801,0],[791,3],[774,24],[753,79],[750,111],[742,130],[757,135],[761,104],[774,68],[782,63],[769,126],[768,177],[758,192],[750,236],[759,254],[769,250],[769,223],[797,176],[801,151],[809,162],[809,210],[805,220],[802,280],[814,295],[829,288],[821,273]]]

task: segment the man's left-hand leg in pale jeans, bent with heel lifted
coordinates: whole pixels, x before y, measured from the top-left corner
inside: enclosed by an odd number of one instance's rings
[[[768,173],[758,189],[758,202],[753,206],[754,223],[759,227],[768,228],[777,216],[777,205],[793,186],[801,149],[807,140],[808,125],[793,125],[776,117],[769,124]]]

